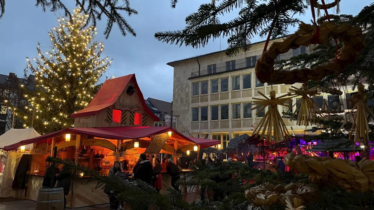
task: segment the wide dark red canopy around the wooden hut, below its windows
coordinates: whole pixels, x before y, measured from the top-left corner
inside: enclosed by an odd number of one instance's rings
[[[27,145],[30,143],[41,142],[46,139],[50,139],[56,136],[61,136],[66,133],[76,134],[76,135],[87,135],[104,139],[140,139],[149,136],[154,136],[160,133],[165,133],[171,131],[172,137],[178,139],[184,139],[197,145],[200,148],[205,148],[208,146],[213,146],[219,144],[217,140],[211,139],[199,139],[199,138],[188,138],[183,134],[179,133],[177,130],[171,127],[100,127],[100,128],[65,128],[53,133],[49,133],[43,136],[39,136],[32,139],[22,140],[18,143],[5,146],[4,150],[15,150],[22,145]]]

